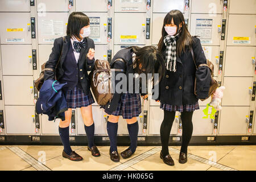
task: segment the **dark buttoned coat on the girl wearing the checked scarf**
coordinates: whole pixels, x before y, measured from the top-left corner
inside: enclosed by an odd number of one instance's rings
[[[192,37],[192,40],[196,65],[207,64],[200,39]],[[165,52],[163,51],[164,57]],[[200,67],[196,70],[188,46],[180,57],[177,56],[176,65],[176,72],[166,70],[163,79],[160,81],[160,102],[169,105],[187,105],[196,104],[199,98],[207,98],[210,88],[210,69]],[[194,94],[195,78],[197,78],[197,88],[200,88],[197,89],[197,96]]]

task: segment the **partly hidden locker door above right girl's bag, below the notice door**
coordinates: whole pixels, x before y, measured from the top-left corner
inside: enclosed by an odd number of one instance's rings
[[[214,76],[218,75],[218,61],[220,55],[220,47],[219,46],[202,46],[204,50],[205,57],[212,62],[214,65]]]

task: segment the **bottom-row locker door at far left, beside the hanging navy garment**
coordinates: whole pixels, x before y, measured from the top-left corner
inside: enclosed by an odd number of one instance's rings
[[[5,106],[7,134],[35,134],[34,106]]]

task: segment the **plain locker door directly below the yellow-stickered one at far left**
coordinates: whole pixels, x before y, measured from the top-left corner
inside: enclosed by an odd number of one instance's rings
[[[2,45],[1,50],[3,75],[33,75],[31,45]]]

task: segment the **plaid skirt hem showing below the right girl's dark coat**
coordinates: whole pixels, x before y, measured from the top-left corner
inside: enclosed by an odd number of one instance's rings
[[[161,103],[160,108],[163,110],[167,110],[167,111],[179,111],[180,113],[182,113],[183,111],[191,112],[191,111],[200,109],[198,102],[196,102],[196,104],[192,104],[192,105],[181,105],[181,106],[175,106],[175,105]]]

